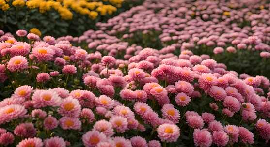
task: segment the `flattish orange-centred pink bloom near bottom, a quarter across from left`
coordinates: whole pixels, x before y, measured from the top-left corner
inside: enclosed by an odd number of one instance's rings
[[[60,127],[64,130],[79,130],[81,129],[81,122],[79,118],[62,117],[59,119]]]

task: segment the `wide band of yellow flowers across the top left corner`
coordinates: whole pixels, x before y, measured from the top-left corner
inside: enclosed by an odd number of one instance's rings
[[[7,11],[10,7],[9,0],[0,0],[0,9]],[[111,5],[105,5],[101,1],[88,0],[13,0],[12,6],[23,7],[29,9],[38,9],[40,13],[45,13],[51,9],[56,10],[62,19],[71,20],[72,11],[80,15],[88,15],[89,18],[95,19],[98,15],[111,15],[117,11],[116,7],[121,7],[123,0],[103,0],[108,1]]]

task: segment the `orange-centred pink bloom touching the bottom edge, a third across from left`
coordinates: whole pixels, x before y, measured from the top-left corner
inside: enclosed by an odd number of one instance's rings
[[[106,135],[98,131],[88,131],[82,136],[85,147],[95,147],[99,142],[106,141],[106,139]]]

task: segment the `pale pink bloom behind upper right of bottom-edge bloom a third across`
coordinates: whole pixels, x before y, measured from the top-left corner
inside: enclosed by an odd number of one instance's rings
[[[96,121],[93,130],[103,132],[107,137],[111,137],[114,134],[112,124],[104,119]]]

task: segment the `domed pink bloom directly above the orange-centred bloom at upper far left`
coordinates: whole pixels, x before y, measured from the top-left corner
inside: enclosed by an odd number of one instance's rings
[[[11,46],[9,49],[11,57],[14,56],[25,56],[29,54],[31,45],[28,43],[18,43]]]

